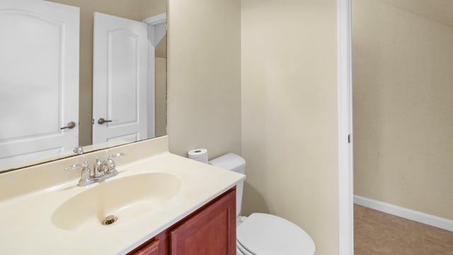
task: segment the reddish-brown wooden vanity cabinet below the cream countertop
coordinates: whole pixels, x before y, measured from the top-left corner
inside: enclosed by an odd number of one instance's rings
[[[129,254],[236,255],[236,188],[214,198]]]

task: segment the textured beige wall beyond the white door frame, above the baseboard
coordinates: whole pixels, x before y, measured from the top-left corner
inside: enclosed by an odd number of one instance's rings
[[[355,194],[453,219],[453,28],[352,8]]]

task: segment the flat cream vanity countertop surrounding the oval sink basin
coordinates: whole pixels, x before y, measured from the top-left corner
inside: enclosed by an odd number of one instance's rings
[[[103,183],[79,187],[77,180],[72,179],[58,186],[2,200],[0,254],[125,254],[245,178],[168,152],[117,166],[117,170],[119,174],[105,182],[158,171],[177,176],[181,187],[158,210],[127,222],[118,220],[110,226],[90,229],[61,229],[55,227],[51,217],[69,198]],[[126,191],[134,187],[122,188]]]

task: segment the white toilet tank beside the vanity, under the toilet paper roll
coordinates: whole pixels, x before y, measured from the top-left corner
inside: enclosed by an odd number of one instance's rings
[[[209,163],[212,166],[217,166],[221,169],[229,171],[235,171],[239,174],[245,174],[246,172],[246,159],[243,159],[243,157],[234,153],[224,154],[223,156],[212,159]],[[239,215],[239,212],[241,212],[242,191],[243,180],[236,183],[236,216]]]

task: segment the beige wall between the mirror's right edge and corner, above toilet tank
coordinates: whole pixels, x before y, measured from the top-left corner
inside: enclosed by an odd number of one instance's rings
[[[239,0],[168,1],[168,140],[241,153]]]

